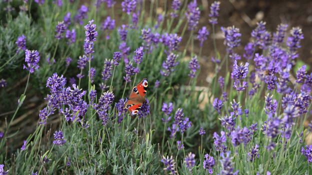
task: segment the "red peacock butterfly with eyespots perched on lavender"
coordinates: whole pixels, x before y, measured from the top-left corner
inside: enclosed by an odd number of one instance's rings
[[[124,102],[124,108],[128,109],[130,115],[137,114],[142,103],[146,102],[147,78],[143,78],[136,86],[132,87],[128,99]]]

